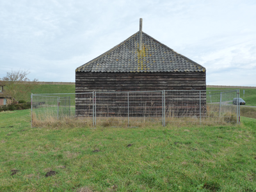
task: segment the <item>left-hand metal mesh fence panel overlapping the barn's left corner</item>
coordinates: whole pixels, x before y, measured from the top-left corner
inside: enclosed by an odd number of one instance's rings
[[[31,95],[31,125],[93,124],[93,94]]]

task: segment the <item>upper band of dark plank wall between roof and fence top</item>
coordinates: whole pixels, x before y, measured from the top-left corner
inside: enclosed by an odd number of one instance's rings
[[[206,90],[205,72],[76,72],[76,93]]]

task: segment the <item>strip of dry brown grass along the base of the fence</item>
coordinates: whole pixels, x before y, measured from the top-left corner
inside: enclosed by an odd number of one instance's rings
[[[152,125],[162,125],[162,117],[129,117],[124,116],[97,116],[97,126],[102,127],[148,127]],[[56,118],[51,114],[36,115],[33,113],[33,127],[81,127],[93,126],[92,116],[84,116],[79,118],[64,116]],[[176,127],[184,127],[189,125],[227,125],[236,124],[237,115],[232,108],[219,111],[219,106],[207,106],[207,110],[199,115],[191,115],[186,117],[165,117],[166,125],[173,125]]]

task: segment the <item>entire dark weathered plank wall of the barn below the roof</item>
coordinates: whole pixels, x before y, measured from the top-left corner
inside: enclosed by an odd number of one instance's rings
[[[162,90],[206,90],[205,72],[156,72],[156,73],[93,73],[76,72],[76,93],[97,93],[97,116],[127,116],[129,93],[130,116],[161,116]],[[115,93],[118,92],[118,93]],[[120,92],[120,93],[119,93]],[[205,113],[206,95],[201,95],[201,110]],[[165,98],[166,116],[199,116],[199,92],[169,92]],[[84,112],[85,111],[85,112]],[[76,100],[77,116],[86,115],[92,106]],[[92,114],[90,114],[92,115]]]

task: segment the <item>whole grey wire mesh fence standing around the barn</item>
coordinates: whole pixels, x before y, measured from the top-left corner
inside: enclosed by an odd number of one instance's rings
[[[239,124],[238,90],[31,95],[31,126]]]

